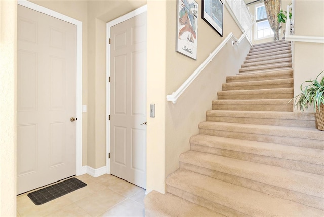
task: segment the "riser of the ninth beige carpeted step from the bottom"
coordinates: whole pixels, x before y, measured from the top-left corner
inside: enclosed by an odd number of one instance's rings
[[[255,85],[223,85],[223,91],[226,90],[262,90],[262,89],[274,89],[274,88],[292,88],[292,83],[284,83],[284,84],[255,84]]]

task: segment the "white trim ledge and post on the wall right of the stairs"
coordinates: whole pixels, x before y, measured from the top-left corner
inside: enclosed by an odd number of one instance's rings
[[[287,13],[291,9],[293,10],[292,5],[288,5]],[[294,11],[292,13],[294,14]],[[287,23],[286,29],[285,29],[285,40],[286,41],[324,43],[324,37],[321,37],[321,36],[294,35],[294,20],[291,20],[289,18],[289,16],[287,16],[286,23]]]

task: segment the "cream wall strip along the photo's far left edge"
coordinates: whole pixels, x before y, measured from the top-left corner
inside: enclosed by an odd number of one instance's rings
[[[17,2],[0,1],[0,216],[16,216]]]

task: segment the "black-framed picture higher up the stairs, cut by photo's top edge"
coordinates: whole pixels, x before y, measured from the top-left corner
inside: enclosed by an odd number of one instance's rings
[[[205,20],[221,37],[223,37],[223,2],[221,0],[201,0]]]

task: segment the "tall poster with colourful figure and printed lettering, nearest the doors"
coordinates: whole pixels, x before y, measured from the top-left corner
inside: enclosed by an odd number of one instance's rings
[[[198,4],[194,0],[177,0],[176,51],[197,60]]]

